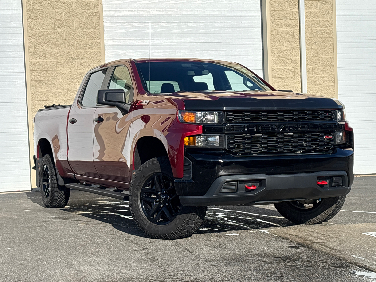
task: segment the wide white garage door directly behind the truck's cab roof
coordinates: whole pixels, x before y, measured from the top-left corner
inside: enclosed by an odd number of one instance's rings
[[[260,0],[103,0],[106,61],[235,61],[262,76]]]

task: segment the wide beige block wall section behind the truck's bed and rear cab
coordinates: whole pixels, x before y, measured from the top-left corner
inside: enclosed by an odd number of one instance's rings
[[[104,62],[100,5],[99,0],[26,0],[32,117],[44,105],[72,103],[85,73]]]

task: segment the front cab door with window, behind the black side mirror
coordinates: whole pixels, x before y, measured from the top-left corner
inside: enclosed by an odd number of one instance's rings
[[[127,66],[111,68],[112,74],[105,88],[122,88],[126,102],[133,101],[133,83]],[[93,127],[94,166],[101,179],[130,183],[129,127],[132,112],[126,115],[114,106],[96,109],[97,122]]]

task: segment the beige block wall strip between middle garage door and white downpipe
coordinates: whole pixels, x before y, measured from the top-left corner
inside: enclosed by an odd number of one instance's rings
[[[271,83],[300,92],[299,5],[297,0],[270,0]]]

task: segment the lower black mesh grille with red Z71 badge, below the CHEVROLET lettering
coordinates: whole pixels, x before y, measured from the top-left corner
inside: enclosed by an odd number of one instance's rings
[[[332,153],[334,133],[229,134],[226,149],[235,155]]]

